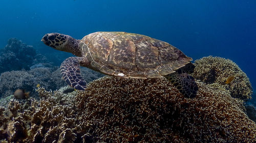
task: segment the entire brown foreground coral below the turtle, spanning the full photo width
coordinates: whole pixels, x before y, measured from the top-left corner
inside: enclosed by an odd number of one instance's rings
[[[0,107],[0,141],[255,142],[256,124],[243,100],[197,82],[185,98],[165,78],[105,76],[86,91],[48,92]],[[64,93],[65,92],[65,93]]]

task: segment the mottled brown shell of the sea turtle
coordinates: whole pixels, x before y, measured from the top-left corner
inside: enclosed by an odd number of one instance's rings
[[[88,68],[106,75],[131,78],[156,78],[192,61],[178,48],[139,34],[96,32],[80,42]]]

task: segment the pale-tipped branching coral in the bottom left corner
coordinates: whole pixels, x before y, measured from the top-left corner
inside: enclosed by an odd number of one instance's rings
[[[11,100],[9,109],[0,107],[0,141],[8,142],[82,142],[89,127],[76,116],[74,93],[66,88],[48,92],[37,89],[40,100]]]

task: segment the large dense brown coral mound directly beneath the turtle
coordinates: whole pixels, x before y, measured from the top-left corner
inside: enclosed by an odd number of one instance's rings
[[[79,116],[94,142],[255,142],[243,101],[198,82],[184,98],[164,78],[105,76],[77,91]]]

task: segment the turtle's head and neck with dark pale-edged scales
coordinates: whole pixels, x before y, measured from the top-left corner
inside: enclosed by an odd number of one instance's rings
[[[76,40],[69,35],[49,33],[42,37],[41,41],[56,50],[71,52],[77,56],[81,52],[79,48],[80,40]]]

